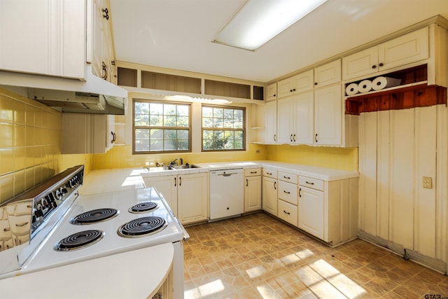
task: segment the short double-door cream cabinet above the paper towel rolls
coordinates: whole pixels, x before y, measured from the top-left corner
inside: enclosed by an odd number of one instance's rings
[[[349,80],[428,57],[428,27],[423,27],[342,58],[342,76],[344,80]]]

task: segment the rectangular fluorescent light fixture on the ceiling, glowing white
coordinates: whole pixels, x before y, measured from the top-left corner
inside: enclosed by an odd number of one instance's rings
[[[257,50],[327,0],[247,0],[214,43]]]

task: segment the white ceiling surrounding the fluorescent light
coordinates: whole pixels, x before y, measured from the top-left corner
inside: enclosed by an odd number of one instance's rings
[[[435,15],[448,19],[448,0],[328,0],[255,52],[211,43],[244,1],[110,0],[116,60],[268,82]]]

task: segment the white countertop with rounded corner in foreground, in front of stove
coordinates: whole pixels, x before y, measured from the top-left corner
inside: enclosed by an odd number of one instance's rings
[[[151,298],[173,257],[171,243],[118,253],[0,279],[0,294],[2,299]]]

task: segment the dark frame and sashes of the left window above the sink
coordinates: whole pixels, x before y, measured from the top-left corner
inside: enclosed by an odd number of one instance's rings
[[[182,105],[188,106],[188,127],[146,127],[146,126],[136,126],[135,125],[135,103],[157,103],[157,104],[171,104],[171,105]],[[133,155],[150,155],[150,154],[161,154],[161,153],[191,153],[192,152],[192,104],[189,102],[167,102],[157,99],[132,99],[132,154]],[[135,130],[139,128],[154,129],[159,128],[162,130],[172,129],[172,130],[188,130],[188,150],[181,151],[136,151],[135,150]],[[165,141],[165,138],[163,139]],[[176,139],[177,140],[177,139]]]

